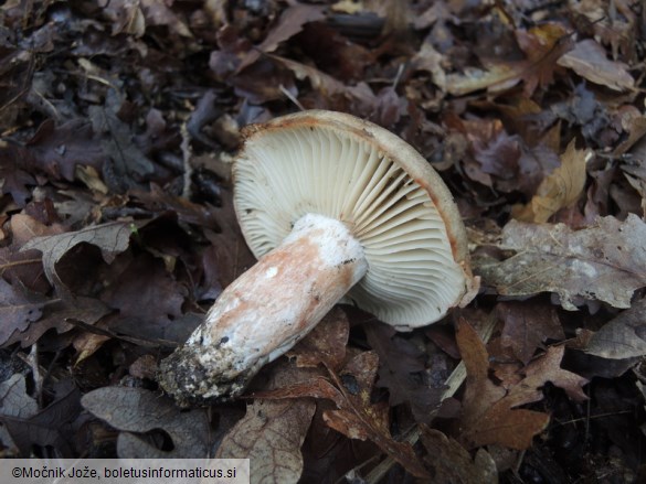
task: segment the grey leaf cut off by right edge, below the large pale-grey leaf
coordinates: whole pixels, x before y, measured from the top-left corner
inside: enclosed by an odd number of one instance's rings
[[[646,355],[646,299],[636,302],[594,333],[585,353],[608,359]]]

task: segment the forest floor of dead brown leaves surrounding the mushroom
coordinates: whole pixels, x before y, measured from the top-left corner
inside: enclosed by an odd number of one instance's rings
[[[3,456],[646,482],[643,2],[11,0],[0,19]],[[428,160],[480,292],[411,333],[337,308],[244,398],[182,410],[158,364],[254,262],[241,128],[301,109]]]

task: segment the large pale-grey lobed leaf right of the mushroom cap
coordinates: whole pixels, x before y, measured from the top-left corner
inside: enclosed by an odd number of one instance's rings
[[[475,272],[499,294],[554,292],[570,311],[584,300],[629,308],[633,292],[646,286],[644,240],[646,223],[634,214],[625,222],[600,217],[581,230],[511,221],[499,247],[516,255],[504,261],[476,257]]]

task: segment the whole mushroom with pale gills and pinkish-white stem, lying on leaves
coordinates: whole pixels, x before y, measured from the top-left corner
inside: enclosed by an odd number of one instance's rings
[[[453,197],[405,141],[350,115],[310,110],[247,126],[234,206],[258,259],[160,364],[180,405],[225,400],[337,303],[399,331],[477,292]]]

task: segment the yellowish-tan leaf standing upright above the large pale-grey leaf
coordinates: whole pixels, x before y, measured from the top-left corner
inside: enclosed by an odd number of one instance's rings
[[[585,166],[593,155],[592,150],[578,150],[572,140],[561,157],[561,165],[542,181],[530,203],[512,207],[511,216],[541,224],[561,208],[574,204],[583,193]]]

